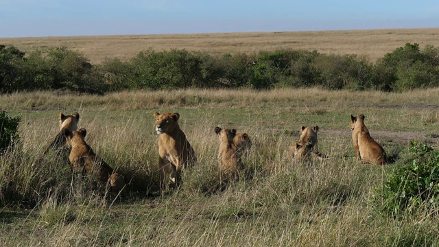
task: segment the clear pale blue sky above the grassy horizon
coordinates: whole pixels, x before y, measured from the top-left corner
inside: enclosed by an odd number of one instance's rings
[[[439,0],[0,0],[0,37],[439,27]]]

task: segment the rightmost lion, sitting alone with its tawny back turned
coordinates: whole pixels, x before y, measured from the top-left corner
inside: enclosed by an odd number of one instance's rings
[[[351,115],[349,126],[353,130],[352,141],[357,161],[361,158],[362,161],[367,163],[383,165],[386,158],[385,151],[381,145],[370,137],[369,130],[364,125],[364,115],[360,114],[357,117]]]

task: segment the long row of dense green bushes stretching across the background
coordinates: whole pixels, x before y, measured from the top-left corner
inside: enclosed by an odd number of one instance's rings
[[[222,56],[148,49],[127,62],[110,58],[93,65],[64,46],[25,54],[0,45],[0,93],[309,86],[395,92],[439,86],[439,49],[407,43],[375,63],[357,55],[294,49]]]

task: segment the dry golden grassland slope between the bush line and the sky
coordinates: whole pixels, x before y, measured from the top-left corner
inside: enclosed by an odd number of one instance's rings
[[[418,43],[420,47],[438,47],[439,28],[0,38],[0,44],[14,45],[26,52],[65,45],[69,49],[82,52],[93,64],[98,64],[105,58],[128,60],[139,51],[149,48],[156,51],[187,49],[211,54],[306,49],[327,54],[358,54],[367,56],[374,62],[405,43]]]

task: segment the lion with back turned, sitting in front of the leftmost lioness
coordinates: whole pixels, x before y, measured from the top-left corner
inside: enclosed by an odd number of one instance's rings
[[[99,184],[106,185],[106,188],[111,191],[119,192],[123,189],[125,186],[123,177],[105,163],[102,158],[99,158],[84,140],[87,134],[86,129],[81,128],[80,130],[70,131],[68,128],[63,128],[62,132],[71,148],[69,161],[75,171],[80,171],[83,174],[91,172],[92,176],[97,178]]]

